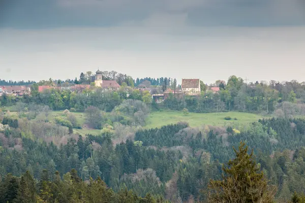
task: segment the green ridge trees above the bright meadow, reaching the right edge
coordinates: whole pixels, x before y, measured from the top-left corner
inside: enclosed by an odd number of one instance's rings
[[[154,107],[177,111],[187,108],[190,112],[198,113],[226,111],[272,113],[284,101],[291,104],[305,103],[305,84],[297,81],[246,84],[241,78],[231,76],[226,85],[219,82],[214,86],[220,87],[220,91],[202,92],[199,96],[192,97],[170,94],[162,104],[154,104]]]

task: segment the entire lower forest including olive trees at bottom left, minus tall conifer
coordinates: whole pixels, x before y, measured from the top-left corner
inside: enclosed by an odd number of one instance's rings
[[[116,145],[108,132],[70,137],[58,146],[24,138],[15,127],[5,129],[0,139],[0,202],[210,201],[209,187],[234,184],[210,181],[228,178],[223,167],[237,161],[229,159],[240,158],[232,149],[242,147],[240,141],[249,154],[253,149],[248,158],[257,164],[252,170],[262,172],[255,175],[257,184],[272,187],[272,199],[301,198],[305,188],[303,119],[263,119],[240,131],[212,126],[199,130],[178,123],[138,130],[134,140]],[[225,172],[239,177],[241,172],[232,170]]]

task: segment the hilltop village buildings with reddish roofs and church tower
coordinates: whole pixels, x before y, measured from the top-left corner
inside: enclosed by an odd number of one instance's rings
[[[85,89],[92,89],[93,87],[100,87],[102,89],[118,90],[120,85],[115,80],[103,80],[103,72],[98,70],[94,76],[93,84],[72,84],[70,86],[58,86],[52,85],[39,85],[38,92],[44,92],[51,89],[56,89],[59,91],[70,90],[75,92],[82,92]],[[200,79],[182,79],[181,85],[177,88],[166,87],[165,91],[158,92],[154,91],[153,88],[140,86],[135,87],[140,91],[148,91],[151,97],[156,103],[161,103],[170,94],[174,94],[176,97],[181,97],[182,95],[197,96],[201,93]],[[208,90],[216,93],[220,90],[219,87],[210,87]],[[11,86],[0,86],[0,95],[2,94],[13,94],[15,96],[22,96],[24,94],[31,94],[31,86],[25,85],[11,85]]]

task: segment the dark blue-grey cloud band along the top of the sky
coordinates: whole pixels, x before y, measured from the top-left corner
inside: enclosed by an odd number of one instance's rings
[[[46,28],[143,23],[194,26],[305,25],[304,0],[2,0],[0,26]],[[156,16],[159,15],[158,19]],[[182,17],[181,17],[182,16]],[[184,16],[184,17],[183,17]],[[156,21],[158,20],[158,21]],[[166,20],[165,20],[166,21]],[[160,25],[159,25],[160,23]],[[163,24],[162,24],[163,23]]]

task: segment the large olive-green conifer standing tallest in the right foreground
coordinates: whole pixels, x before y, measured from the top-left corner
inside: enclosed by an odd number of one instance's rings
[[[229,160],[229,167],[223,167],[223,180],[210,181],[208,202],[272,202],[275,188],[267,186],[253,158],[253,150],[248,154],[248,146],[241,142],[234,152],[236,158]]]

